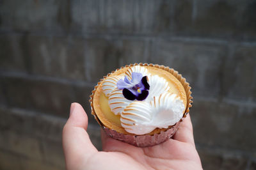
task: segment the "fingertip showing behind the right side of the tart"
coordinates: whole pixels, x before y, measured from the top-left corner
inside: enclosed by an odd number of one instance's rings
[[[189,114],[183,119],[182,122],[180,122],[179,129],[173,135],[173,139],[184,143],[190,143],[195,146],[193,127]]]

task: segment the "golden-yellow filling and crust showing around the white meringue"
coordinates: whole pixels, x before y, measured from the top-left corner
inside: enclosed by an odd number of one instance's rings
[[[184,105],[186,105],[186,92],[180,83],[171,73],[166,72],[165,70],[157,69],[154,67],[147,67],[148,72],[152,75],[158,75],[159,77],[163,77],[168,82],[168,86],[170,89],[168,90],[170,93],[175,93],[177,96],[180,97],[180,99],[183,101]],[[120,70],[119,70],[120,71]],[[115,75],[124,75],[125,69],[123,72],[115,72]],[[110,75],[111,76],[111,75]],[[101,86],[99,86],[101,88]],[[125,133],[124,128],[122,128],[121,121],[120,121],[120,115],[115,115],[108,104],[108,97],[102,92],[102,90],[99,92],[99,108],[103,115],[98,115],[100,121],[108,127],[108,128],[114,128],[118,132]],[[127,134],[127,132],[125,133]]]

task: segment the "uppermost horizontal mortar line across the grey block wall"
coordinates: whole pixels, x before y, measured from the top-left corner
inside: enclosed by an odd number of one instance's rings
[[[51,34],[50,34],[51,33]],[[216,45],[228,45],[231,43],[237,43],[239,45],[244,46],[256,46],[256,41],[250,41],[250,40],[226,40],[225,38],[211,38],[211,37],[202,37],[202,36],[177,36],[177,35],[170,35],[168,33],[160,33],[158,35],[156,34],[150,34],[150,33],[116,33],[116,32],[108,32],[108,33],[95,33],[95,32],[86,32],[86,33],[65,33],[64,31],[56,31],[56,33],[49,32],[39,32],[39,31],[4,31],[3,29],[0,29],[0,35],[31,35],[31,36],[47,36],[47,37],[65,37],[65,36],[72,36],[74,38],[76,37],[82,37],[85,39],[90,38],[102,38],[102,39],[109,39],[111,37],[112,39],[128,39],[128,40],[146,40],[147,38],[161,38],[162,40],[170,40],[170,41],[180,41],[180,42],[193,42],[193,43],[212,43]]]

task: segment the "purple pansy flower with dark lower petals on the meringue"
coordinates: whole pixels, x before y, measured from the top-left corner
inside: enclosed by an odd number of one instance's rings
[[[147,76],[143,77],[141,73],[132,72],[131,81],[125,76],[116,85],[118,89],[123,89],[123,95],[128,100],[144,100],[148,96]]]

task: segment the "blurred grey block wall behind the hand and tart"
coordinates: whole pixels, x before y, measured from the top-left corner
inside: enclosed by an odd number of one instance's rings
[[[191,84],[204,169],[256,169],[256,1],[0,0],[0,169],[65,169],[72,102],[130,63]]]

